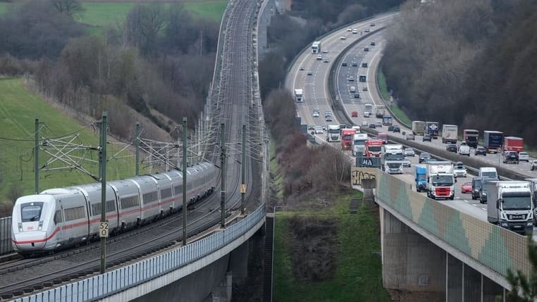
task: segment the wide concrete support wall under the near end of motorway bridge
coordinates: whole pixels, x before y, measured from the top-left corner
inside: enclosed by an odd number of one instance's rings
[[[399,293],[420,291],[428,301],[444,302],[445,251],[387,210],[380,211],[384,287]]]

